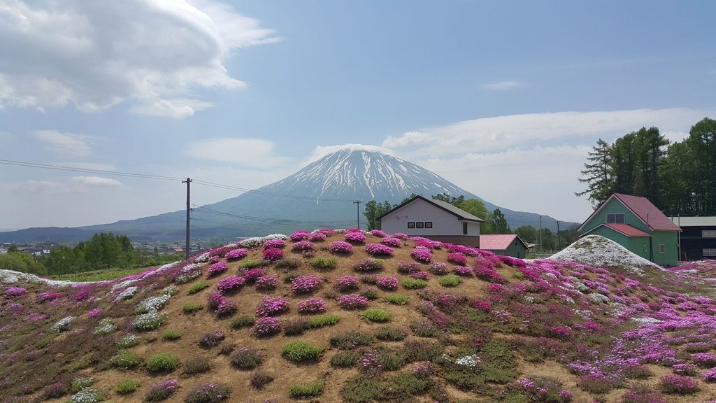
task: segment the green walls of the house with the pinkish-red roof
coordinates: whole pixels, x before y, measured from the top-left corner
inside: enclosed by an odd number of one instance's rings
[[[629,224],[634,228],[641,229],[647,234],[651,234],[651,237],[627,237],[620,232],[614,231],[609,227],[599,227],[599,225],[606,222],[606,214],[612,213],[624,213],[624,224]],[[598,229],[594,229],[599,227]],[[594,231],[589,232],[591,229]],[[652,231],[644,224],[636,214],[632,213],[631,210],[627,209],[621,201],[616,198],[612,198],[607,201],[599,214],[596,214],[589,221],[584,223],[582,227],[582,234],[596,234],[601,235],[609,240],[612,240],[619,245],[626,247],[629,252],[644,257],[644,259],[650,260],[657,265],[662,266],[674,266],[679,261],[679,233],[676,231]],[[664,253],[659,253],[659,245],[664,245]],[[646,252],[644,251],[644,245],[646,245]]]

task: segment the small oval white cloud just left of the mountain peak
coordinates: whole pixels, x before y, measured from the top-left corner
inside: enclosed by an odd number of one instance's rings
[[[290,161],[277,156],[274,148],[274,143],[260,138],[210,138],[191,143],[185,153],[208,161],[263,168],[281,166]]]

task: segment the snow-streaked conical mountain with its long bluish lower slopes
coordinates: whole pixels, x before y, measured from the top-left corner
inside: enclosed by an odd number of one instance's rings
[[[192,214],[193,239],[233,239],[270,232],[287,233],[304,228],[345,228],[357,225],[356,204],[369,200],[398,203],[410,194],[432,196],[447,192],[453,196],[480,199],[488,210],[500,209],[514,229],[522,225],[539,227],[540,215],[516,212],[485,201],[414,163],[374,151],[344,149],[310,163],[295,174],[249,191],[241,196],[196,208]],[[363,204],[359,210],[361,221]],[[556,220],[543,216],[543,227],[556,230]],[[566,228],[571,223],[563,223]],[[0,233],[0,242],[53,240],[74,242],[95,232],[125,234],[132,240],[181,240],[185,212],[122,220],[112,224],[78,228],[22,229]]]

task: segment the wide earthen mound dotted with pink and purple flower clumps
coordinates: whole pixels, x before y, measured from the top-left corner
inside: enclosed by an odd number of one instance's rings
[[[656,272],[656,270],[654,270]],[[0,402],[707,402],[712,288],[359,230],[0,273]]]

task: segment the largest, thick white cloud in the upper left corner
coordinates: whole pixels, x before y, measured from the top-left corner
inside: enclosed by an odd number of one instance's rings
[[[211,106],[198,88],[240,88],[223,62],[276,42],[270,29],[208,0],[4,1],[0,109],[129,101],[137,113],[182,118]]]

